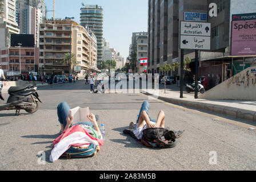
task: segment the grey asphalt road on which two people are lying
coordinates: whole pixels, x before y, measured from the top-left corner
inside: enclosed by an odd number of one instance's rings
[[[146,96],[92,94],[89,89],[82,81],[40,88],[38,93],[43,104],[37,113],[22,111],[17,117],[15,111],[1,111],[0,170],[256,169],[256,130],[248,130],[248,125],[240,121],[150,100],[151,118],[163,110],[166,126],[185,130],[176,147],[151,149],[122,133],[131,121],[135,122]],[[99,124],[105,124],[105,144],[93,158],[49,161],[53,140],[59,136],[57,106],[62,101],[70,107],[89,106],[91,113],[99,115]],[[213,121],[214,118],[218,121]],[[45,154],[43,162],[39,160],[42,154]],[[214,156],[217,158],[211,160]]]

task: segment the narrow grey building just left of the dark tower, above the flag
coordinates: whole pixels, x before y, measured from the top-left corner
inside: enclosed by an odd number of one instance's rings
[[[137,38],[137,72],[140,74],[147,71],[147,66],[141,66],[141,59],[147,59],[147,35],[139,35]]]

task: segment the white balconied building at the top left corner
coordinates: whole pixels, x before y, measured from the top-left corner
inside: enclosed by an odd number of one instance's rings
[[[19,34],[15,0],[0,0],[0,49],[10,47],[10,34]]]

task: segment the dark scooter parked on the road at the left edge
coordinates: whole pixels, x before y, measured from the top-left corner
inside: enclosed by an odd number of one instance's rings
[[[1,78],[0,81],[7,80]],[[9,93],[9,98],[6,104],[0,105],[0,111],[16,110],[15,115],[19,115],[21,109],[24,109],[27,113],[35,113],[39,108],[39,102],[42,103],[37,93],[37,87],[34,84],[11,86],[7,92]],[[0,99],[4,101],[1,92]]]

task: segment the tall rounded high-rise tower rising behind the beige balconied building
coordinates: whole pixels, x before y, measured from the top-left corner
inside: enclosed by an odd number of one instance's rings
[[[100,63],[103,60],[103,9],[98,5],[85,5],[80,15],[81,26],[89,27],[97,38],[97,59]]]

